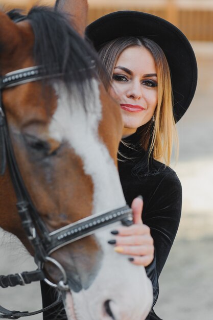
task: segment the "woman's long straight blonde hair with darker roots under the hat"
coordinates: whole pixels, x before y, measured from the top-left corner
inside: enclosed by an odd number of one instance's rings
[[[100,59],[104,68],[112,79],[114,67],[120,54],[129,47],[144,47],[153,56],[158,79],[158,103],[154,112],[155,121],[149,121],[140,127],[140,144],[150,156],[170,164],[173,142],[175,154],[178,154],[178,136],[173,116],[173,97],[170,68],[167,59],[159,45],[145,37],[120,37],[102,45],[99,50]],[[109,89],[109,84],[105,83]],[[150,141],[151,138],[151,141]]]

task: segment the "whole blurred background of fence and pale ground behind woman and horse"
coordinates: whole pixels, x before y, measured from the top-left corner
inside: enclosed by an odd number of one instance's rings
[[[0,0],[0,7],[27,11],[36,3],[34,0]],[[54,3],[53,0],[39,2]],[[89,0],[88,22],[117,10],[144,11],[169,20],[190,39],[195,50],[198,87],[190,108],[177,125],[179,160],[172,165],[182,182],[182,219],[160,276],[155,311],[163,320],[212,320],[213,0]],[[32,258],[16,239],[1,235],[0,273],[33,269]],[[39,286],[0,289],[0,304],[19,311],[40,308]],[[41,315],[31,317],[32,320],[41,318]]]

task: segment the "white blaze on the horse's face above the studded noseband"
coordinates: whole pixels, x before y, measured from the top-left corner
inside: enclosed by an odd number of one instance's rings
[[[57,141],[65,140],[81,157],[83,169],[94,186],[93,214],[122,207],[126,204],[119,174],[105,144],[99,139],[102,105],[98,81],[85,81],[85,112],[78,89],[68,93],[65,86],[55,84],[58,106],[50,124],[50,134]],[[92,88],[92,92],[91,92]]]

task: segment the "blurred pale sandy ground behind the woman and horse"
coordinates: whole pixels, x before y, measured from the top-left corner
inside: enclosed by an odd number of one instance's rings
[[[178,123],[180,155],[173,167],[182,182],[183,210],[159,280],[155,311],[163,320],[213,319],[213,43],[192,44],[199,82],[190,109]],[[1,232],[0,239],[1,274],[35,268],[13,236]],[[40,308],[39,285],[0,289],[0,304],[11,310]],[[42,316],[26,317],[30,318]]]

